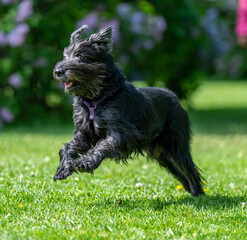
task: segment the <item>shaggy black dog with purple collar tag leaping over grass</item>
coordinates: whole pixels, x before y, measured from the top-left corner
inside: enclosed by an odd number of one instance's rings
[[[192,196],[203,195],[202,177],[190,153],[187,113],[176,95],[162,88],[137,88],[127,82],[111,55],[106,27],[82,38],[83,25],[71,34],[54,78],[74,96],[74,136],[59,151],[54,180],[73,172],[93,173],[106,158],[123,161],[146,153],[180,181]]]

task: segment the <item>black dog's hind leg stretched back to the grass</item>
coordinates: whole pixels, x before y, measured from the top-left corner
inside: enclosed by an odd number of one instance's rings
[[[160,165],[168,169],[192,196],[203,195],[201,176],[190,153],[189,119],[184,111],[166,122],[158,144],[164,147],[163,152],[169,157],[160,155]]]

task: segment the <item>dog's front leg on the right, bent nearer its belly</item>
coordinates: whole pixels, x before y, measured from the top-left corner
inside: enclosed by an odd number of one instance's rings
[[[105,158],[116,158],[119,156],[119,141],[116,137],[108,136],[90,149],[83,159],[77,159],[76,170],[92,173],[99,167]],[[75,163],[75,162],[74,162]]]

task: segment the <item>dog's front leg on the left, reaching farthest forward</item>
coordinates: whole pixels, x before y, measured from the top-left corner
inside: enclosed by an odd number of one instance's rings
[[[72,140],[69,143],[64,144],[60,149],[60,164],[53,179],[55,181],[66,179],[75,172],[76,169],[73,162],[80,157],[80,154],[86,153],[89,148],[89,139],[83,132],[78,131]]]

